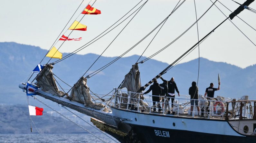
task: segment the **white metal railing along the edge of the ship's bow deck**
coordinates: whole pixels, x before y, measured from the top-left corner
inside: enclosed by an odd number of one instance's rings
[[[126,110],[132,110],[137,112],[147,112],[147,113],[157,113],[163,115],[195,115],[201,117],[219,117],[220,119],[235,119],[235,118],[254,118],[255,114],[252,113],[252,109],[248,108],[247,105],[251,105],[250,101],[231,101],[229,98],[223,98],[217,96],[216,98],[206,98],[204,96],[199,96],[199,99],[193,99],[195,102],[198,102],[200,111],[197,111],[196,106],[191,106],[190,96],[175,96],[175,100],[173,103],[171,101],[168,102],[168,99],[171,100],[170,97],[164,97],[164,101],[157,102],[155,106],[153,106],[152,97],[154,95],[147,95],[142,93],[128,92],[122,91],[120,89],[116,89],[114,92],[114,101],[111,101],[111,106]],[[155,96],[159,97],[159,96]],[[161,96],[163,97],[163,96]],[[160,98],[160,97],[159,97]],[[230,104],[231,103],[231,104]],[[240,104],[243,103],[243,104]],[[255,102],[254,102],[255,103]],[[164,104],[164,108],[163,108]],[[195,105],[195,103],[194,103]],[[160,107],[159,107],[160,106]],[[193,107],[193,111],[191,113],[191,107]],[[252,107],[252,106],[250,106]],[[154,109],[155,108],[155,109]],[[228,110],[228,112],[226,112]],[[243,110],[241,112],[241,110]],[[158,111],[158,112],[157,112]],[[254,109],[255,112],[255,109]],[[244,113],[242,115],[242,113]]]

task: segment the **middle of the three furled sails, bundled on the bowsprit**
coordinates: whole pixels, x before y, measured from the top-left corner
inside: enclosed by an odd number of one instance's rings
[[[80,80],[72,87],[70,99],[83,103],[86,107],[101,109],[103,104],[93,103],[87,86],[87,78],[81,77]]]

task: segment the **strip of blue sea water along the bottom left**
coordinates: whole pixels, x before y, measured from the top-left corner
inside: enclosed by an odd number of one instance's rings
[[[108,143],[115,143],[102,133],[96,133]],[[0,143],[100,143],[91,134],[0,134]],[[119,142],[119,141],[118,141]]]

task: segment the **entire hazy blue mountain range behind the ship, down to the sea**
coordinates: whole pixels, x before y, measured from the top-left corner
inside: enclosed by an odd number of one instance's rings
[[[14,42],[0,43],[0,133],[27,133],[30,131],[29,118],[27,116],[28,101],[30,105],[44,108],[43,116],[33,117],[36,123],[42,123],[42,125],[38,125],[41,132],[83,132],[81,129],[74,127],[74,125],[67,125],[71,123],[67,123],[68,121],[64,118],[53,114],[51,109],[38,101],[33,100],[33,98],[27,100],[26,94],[18,88],[19,83],[27,81],[30,77],[29,75],[31,75],[31,71],[38,65],[46,53],[47,50],[43,50],[36,46],[17,44]],[[63,56],[67,54],[68,53],[63,53]],[[91,53],[86,55],[74,54],[70,58],[56,63],[52,71],[54,75],[57,76],[55,78],[58,83],[60,83],[63,89],[68,91],[71,88],[69,86],[76,83],[98,57],[99,55]],[[101,68],[115,58],[117,57],[101,56],[85,76]],[[90,77],[87,80],[87,85],[90,87],[91,91],[98,93],[99,95],[109,93],[114,87],[119,86],[123,81],[124,76],[129,72],[131,66],[138,58],[138,55],[120,58],[108,68]],[[141,59],[145,58],[146,57],[142,57]],[[44,58],[42,64],[47,63],[48,60],[48,57]],[[56,59],[51,60],[50,63],[55,60]],[[211,82],[214,83],[217,88],[217,77],[218,74],[220,74],[221,90],[215,91],[215,96],[220,95],[230,98],[239,98],[243,95],[249,95],[249,99],[256,99],[254,95],[254,90],[256,89],[256,65],[243,69],[224,62],[214,62],[204,58],[200,58],[199,60],[199,94],[204,94],[205,89],[210,86]],[[143,64],[139,64],[142,86],[158,75],[167,66],[167,63],[152,59]],[[36,74],[32,76],[30,81],[33,80],[35,75]],[[195,59],[177,64],[162,77],[167,80],[170,80],[171,77],[175,77],[175,82],[180,94],[188,95],[188,89],[191,86],[192,81],[197,81],[197,76],[198,59]],[[58,78],[69,85],[66,85]],[[162,83],[162,81],[158,79],[158,83]],[[37,96],[37,98],[43,100],[43,102],[56,110],[62,111],[62,114],[69,115],[72,118],[71,113],[64,110],[62,107],[59,107],[56,103],[43,99],[40,96]],[[81,116],[87,121],[90,120],[90,117],[87,117],[86,115]],[[52,124],[54,125],[52,126]],[[63,131],[60,131],[62,129]]]

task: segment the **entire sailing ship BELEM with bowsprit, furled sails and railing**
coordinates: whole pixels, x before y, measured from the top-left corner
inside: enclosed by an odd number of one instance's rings
[[[71,88],[70,93],[61,91],[52,71],[54,64],[58,63],[58,61],[47,63],[40,67],[40,72],[35,77],[36,82],[33,83],[33,80],[30,83],[28,80],[27,83],[20,83],[19,87],[25,92],[33,92],[35,95],[42,96],[64,107],[69,107],[91,116],[93,124],[120,142],[255,142],[256,101],[249,100],[248,96],[243,96],[239,100],[219,96],[217,98],[199,96],[197,100],[199,101],[201,111],[197,113],[193,110],[192,116],[190,116],[190,97],[176,97],[174,106],[170,107],[167,98],[153,105],[152,97],[154,95],[146,95],[142,92],[153,80],[164,75],[177,62],[182,60],[184,56],[194,50],[222,23],[228,19],[232,20],[242,10],[250,9],[249,4],[253,1],[247,0],[241,4],[229,17],[201,40],[198,40],[194,46],[163,71],[157,73],[144,86],[141,85],[138,65],[145,62],[145,60],[137,61],[132,65],[128,74],[125,75],[125,79],[119,87],[111,91],[112,94],[109,99],[92,96],[92,94],[97,94],[92,93],[87,85],[87,79],[91,77],[90,75],[86,77],[83,75]],[[177,4],[176,9],[180,5]],[[175,12],[175,9],[173,12]],[[68,37],[64,38],[67,39]],[[55,53],[58,53],[57,49],[55,49]],[[55,53],[52,54],[51,58],[54,57]],[[115,62],[115,60],[112,62]],[[106,67],[100,68],[99,71]],[[36,97],[34,98],[36,99]],[[158,112],[154,111],[154,108],[159,104],[162,105],[162,103],[164,103],[164,107]]]

